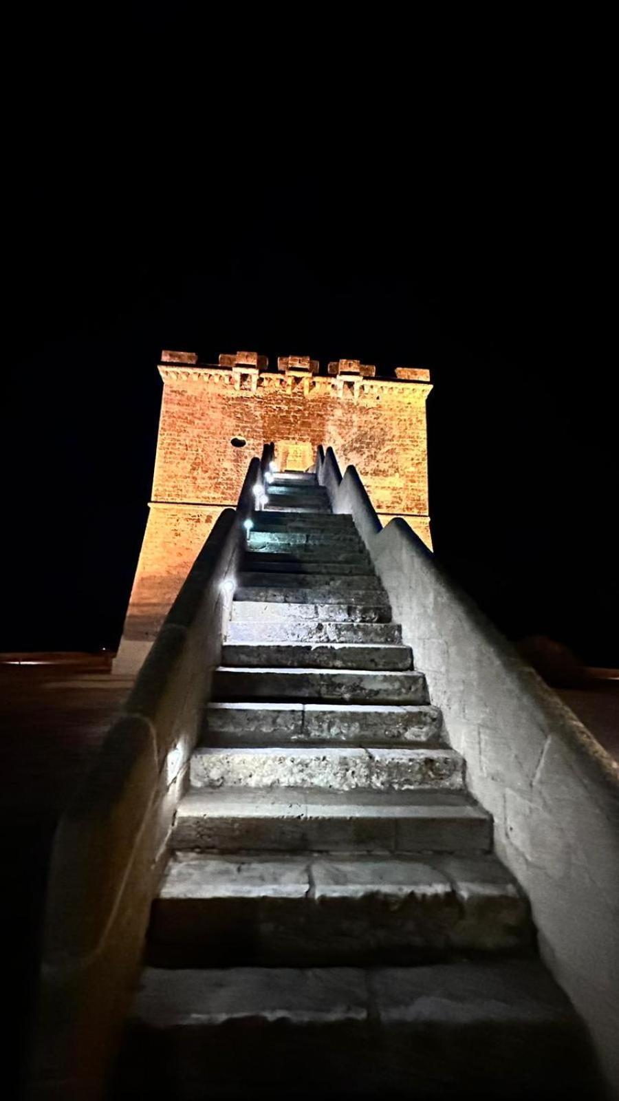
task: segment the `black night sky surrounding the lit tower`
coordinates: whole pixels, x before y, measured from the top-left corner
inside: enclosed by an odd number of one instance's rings
[[[566,63],[528,98],[465,66],[442,98],[437,48],[424,96],[419,42],[385,87],[358,55],[257,56],[252,28],[242,48],[196,44],[177,10],[93,17],[79,50],[54,22],[28,54],[4,206],[0,648],[116,647],[159,353],[247,347],[430,367],[436,553],[510,636],[619,665],[610,151],[582,74]]]

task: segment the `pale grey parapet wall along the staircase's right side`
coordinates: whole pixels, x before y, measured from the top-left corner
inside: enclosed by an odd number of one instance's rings
[[[542,957],[619,1097],[619,766],[402,520],[380,530],[354,469],[336,487],[323,479],[370,550],[468,785],[493,815],[497,852],[529,895]]]

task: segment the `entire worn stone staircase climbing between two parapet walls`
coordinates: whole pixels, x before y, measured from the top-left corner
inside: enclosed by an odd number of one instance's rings
[[[254,513],[173,849],[115,1095],[587,1092],[491,820],[312,475]]]

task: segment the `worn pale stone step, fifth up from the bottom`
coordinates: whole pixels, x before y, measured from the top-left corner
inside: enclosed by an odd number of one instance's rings
[[[215,704],[205,708],[205,745],[437,745],[443,718],[432,705]]]

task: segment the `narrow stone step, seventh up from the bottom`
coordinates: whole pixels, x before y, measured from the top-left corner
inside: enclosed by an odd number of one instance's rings
[[[402,644],[363,642],[226,642],[221,664],[254,668],[410,669],[413,653]]]

